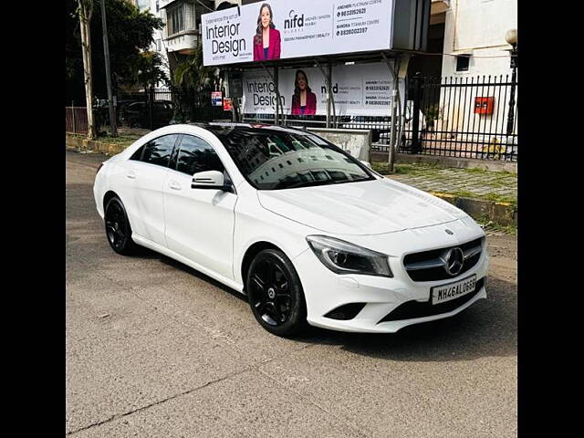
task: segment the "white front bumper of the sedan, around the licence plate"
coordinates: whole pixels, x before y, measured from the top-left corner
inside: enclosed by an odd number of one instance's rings
[[[390,266],[394,277],[343,275],[339,276],[324,266],[312,250],[308,249],[294,259],[298,276],[304,288],[307,301],[307,320],[312,326],[330,328],[340,331],[394,333],[400,328],[435,319],[452,317],[468,308],[475,301],[486,298],[485,277],[488,268],[488,255],[485,249],[476,265],[448,280],[414,282],[402,266],[400,260],[391,260]],[[431,308],[431,287],[442,286],[467,276],[476,275],[478,285],[470,299],[464,301],[457,308],[448,308],[440,314],[423,316],[422,318],[404,318],[380,322],[381,319],[393,310],[407,302],[425,303],[412,306],[414,308]],[[454,300],[453,300],[454,301]],[[364,307],[354,318],[348,320],[327,318],[332,310],[349,303],[365,303]],[[407,313],[407,312],[406,312]],[[415,313],[415,312],[414,312]],[[426,312],[427,315],[428,312]]]

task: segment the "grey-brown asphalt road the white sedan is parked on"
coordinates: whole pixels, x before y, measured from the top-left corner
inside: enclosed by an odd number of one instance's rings
[[[454,318],[280,339],[211,278],[110,249],[104,160],[66,152],[68,435],[516,436],[515,237],[489,235],[489,298]]]

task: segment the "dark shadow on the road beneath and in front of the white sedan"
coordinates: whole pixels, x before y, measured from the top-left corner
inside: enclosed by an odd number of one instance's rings
[[[247,306],[245,295],[170,257],[143,248],[147,258],[181,269],[218,287]],[[513,357],[516,346],[516,284],[489,276],[487,299],[481,299],[452,318],[401,328],[397,333],[346,333],[310,328],[292,342],[336,345],[343,350],[385,360],[452,361],[483,357]]]

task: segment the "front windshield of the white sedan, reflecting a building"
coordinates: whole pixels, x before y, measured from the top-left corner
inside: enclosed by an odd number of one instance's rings
[[[374,179],[349,154],[309,132],[239,128],[216,134],[245,179],[259,190]]]

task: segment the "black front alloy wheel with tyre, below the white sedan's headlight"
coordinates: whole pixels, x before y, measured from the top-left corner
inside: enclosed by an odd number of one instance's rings
[[[291,336],[308,328],[300,279],[282,251],[265,249],[255,255],[245,290],[255,319],[270,333]]]

